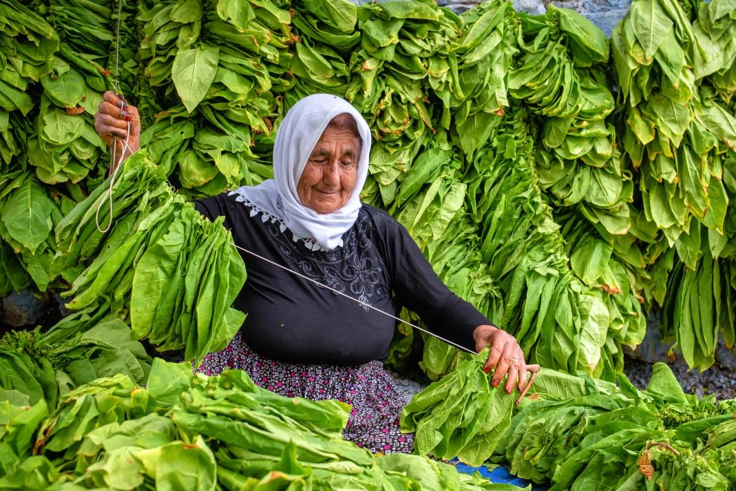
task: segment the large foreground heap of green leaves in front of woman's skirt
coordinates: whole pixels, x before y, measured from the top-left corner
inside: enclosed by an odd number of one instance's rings
[[[342,439],[350,406],[285,398],[241,370],[207,377],[157,358],[146,387],[98,378],[56,409],[0,398],[4,490],[513,491],[406,454]]]

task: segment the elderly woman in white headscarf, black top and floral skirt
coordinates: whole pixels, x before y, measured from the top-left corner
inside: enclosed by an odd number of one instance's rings
[[[135,151],[137,110],[114,93],[104,99],[96,130],[116,155],[130,133]],[[491,345],[485,370],[495,367],[494,386],[508,375],[509,393],[526,383],[526,364],[513,336],[447,289],[402,225],[361,204],[370,144],[348,102],[305,97],[277,131],[273,180],[196,203],[210,219],[224,216],[235,244],[260,256],[241,252],[248,278],[235,306],[247,317],[199,370],[240,368],[282,395],[343,400],[352,406],[346,439],[374,452],[411,452],[413,435],[398,431],[408,400],[383,370],[395,322],[381,311],[406,306],[445,339],[477,351]]]

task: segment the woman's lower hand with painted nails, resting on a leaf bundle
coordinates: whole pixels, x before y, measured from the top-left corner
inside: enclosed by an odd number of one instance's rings
[[[479,325],[473,331],[473,339],[478,353],[484,350],[486,345],[491,345],[491,353],[483,370],[489,373],[495,368],[491,380],[494,387],[500,384],[506,374],[509,374],[509,378],[506,379],[507,393],[511,394],[514,391],[514,385],[517,385],[519,390],[526,386],[524,352],[514,336],[492,325]]]

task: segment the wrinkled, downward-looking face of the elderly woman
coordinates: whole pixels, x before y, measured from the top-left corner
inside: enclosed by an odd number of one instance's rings
[[[329,124],[319,138],[297,183],[302,205],[317,213],[342,208],[355,188],[360,141],[350,127]]]

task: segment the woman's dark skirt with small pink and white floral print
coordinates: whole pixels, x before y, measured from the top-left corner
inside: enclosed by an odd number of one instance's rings
[[[350,404],[345,439],[374,453],[411,453],[414,434],[399,431],[408,398],[394,385],[381,361],[356,367],[289,364],[253,352],[236,334],[224,350],[205,356],[197,369],[216,375],[227,368],[244,370],[258,386],[286,397],[337,399]]]

